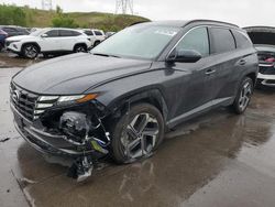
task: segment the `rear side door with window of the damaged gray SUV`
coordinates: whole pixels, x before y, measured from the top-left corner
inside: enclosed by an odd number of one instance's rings
[[[231,30],[210,26],[209,33],[211,43],[209,61],[216,72],[212,89],[213,101],[226,101],[234,96],[234,89],[241,75],[238,66],[246,63],[237,52],[235,39]]]

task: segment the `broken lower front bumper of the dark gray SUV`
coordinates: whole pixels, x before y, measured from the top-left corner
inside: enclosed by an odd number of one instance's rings
[[[98,143],[100,140],[97,138],[91,137],[85,142],[78,143],[69,140],[65,134],[53,134],[44,131],[44,129],[35,128],[33,122],[21,115],[13,105],[11,105],[11,109],[14,115],[14,126],[18,132],[28,143],[42,153],[72,157],[91,155],[94,159],[108,153],[108,150]]]

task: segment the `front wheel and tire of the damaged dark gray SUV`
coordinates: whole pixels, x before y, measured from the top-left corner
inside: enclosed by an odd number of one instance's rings
[[[119,164],[147,157],[162,143],[164,121],[162,113],[152,105],[139,103],[114,124],[111,152]]]

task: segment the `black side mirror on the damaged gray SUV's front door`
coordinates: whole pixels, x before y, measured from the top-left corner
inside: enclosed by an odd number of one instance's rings
[[[168,62],[196,63],[201,59],[202,55],[195,50],[178,50],[170,53]]]

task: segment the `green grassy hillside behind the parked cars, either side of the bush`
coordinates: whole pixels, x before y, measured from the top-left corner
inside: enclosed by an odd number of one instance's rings
[[[28,26],[51,26],[55,11],[23,8],[29,17]],[[146,18],[127,14],[112,14],[100,12],[70,12],[65,13],[75,20],[80,28],[98,28],[105,31],[118,31],[134,22],[148,21]]]

